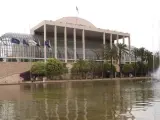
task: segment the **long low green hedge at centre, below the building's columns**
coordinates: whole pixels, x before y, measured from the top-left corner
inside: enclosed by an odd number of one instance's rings
[[[111,70],[111,64],[96,62],[96,61],[84,61],[79,60],[73,64],[71,68],[71,73],[73,77],[76,78],[97,78],[110,76],[113,71],[113,74],[116,72],[116,68],[113,65]]]

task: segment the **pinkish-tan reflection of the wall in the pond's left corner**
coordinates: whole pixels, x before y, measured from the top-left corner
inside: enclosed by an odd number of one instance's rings
[[[28,106],[22,101],[32,100],[32,95],[22,91],[20,85],[0,86],[0,89],[0,119],[17,120],[17,116],[19,116],[22,120],[25,112],[21,111],[21,107],[25,110],[24,106]],[[20,111],[21,114],[19,114]]]

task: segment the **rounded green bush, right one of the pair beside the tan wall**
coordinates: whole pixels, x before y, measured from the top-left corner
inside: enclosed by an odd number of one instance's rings
[[[48,59],[46,62],[47,76],[53,78],[54,76],[62,75],[64,72],[64,66],[61,61],[57,59]]]

